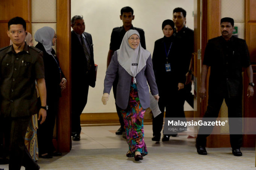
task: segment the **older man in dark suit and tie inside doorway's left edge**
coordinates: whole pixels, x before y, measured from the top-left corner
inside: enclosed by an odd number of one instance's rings
[[[72,140],[80,140],[80,115],[85,108],[89,86],[95,86],[95,65],[91,34],[85,31],[83,16],[71,19],[71,117]]]

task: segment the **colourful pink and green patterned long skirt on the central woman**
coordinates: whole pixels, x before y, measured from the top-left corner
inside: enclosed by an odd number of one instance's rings
[[[143,118],[145,109],[141,107],[138,97],[138,89],[136,84],[130,86],[130,97],[128,107],[125,110],[121,109],[124,119],[124,129],[126,132],[127,143],[129,150],[134,156],[135,151],[141,152],[141,155],[147,155],[147,147],[144,142]]]

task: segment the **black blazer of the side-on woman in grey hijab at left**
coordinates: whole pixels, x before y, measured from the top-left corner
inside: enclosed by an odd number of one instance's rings
[[[61,79],[65,78],[64,73],[61,70],[59,70],[58,64],[59,63],[58,58],[56,57],[56,53],[54,49],[52,49],[52,54],[55,56],[55,59],[52,55],[48,54],[44,46],[41,43],[38,43],[36,48],[40,49],[44,55],[44,72],[45,72],[45,85],[47,90],[47,98],[48,97],[61,97],[61,86],[59,85],[61,83]]]

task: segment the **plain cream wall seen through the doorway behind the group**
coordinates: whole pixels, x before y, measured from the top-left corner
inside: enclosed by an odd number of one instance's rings
[[[96,86],[89,88],[88,102],[83,113],[116,112],[113,92],[111,91],[108,104],[105,106],[101,103],[101,96],[111,32],[114,27],[123,25],[119,15],[124,6],[133,8],[133,26],[145,31],[146,47],[151,54],[155,41],[164,36],[162,22],[165,19],[172,19],[175,7],[183,7],[186,10],[187,26],[194,29],[193,0],[71,0],[71,16],[84,16],[85,31],[92,34],[94,60],[95,64],[98,64]]]

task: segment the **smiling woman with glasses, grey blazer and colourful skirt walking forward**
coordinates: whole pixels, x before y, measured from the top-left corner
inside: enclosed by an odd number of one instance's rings
[[[156,100],[159,96],[151,54],[141,47],[139,33],[136,30],[127,31],[120,49],[114,52],[106,71],[101,99],[103,104],[108,101],[117,74],[119,79],[116,103],[121,108],[129,145],[126,156],[134,156],[135,161],[143,160],[143,156],[148,154],[143,129],[145,109],[150,104],[147,82]]]

